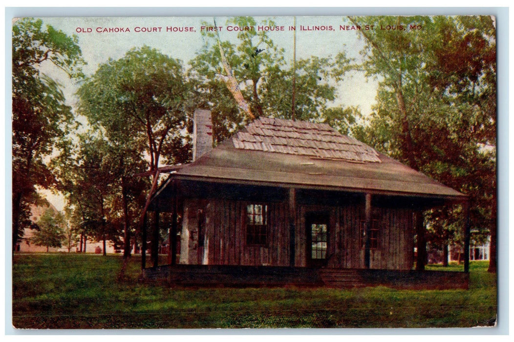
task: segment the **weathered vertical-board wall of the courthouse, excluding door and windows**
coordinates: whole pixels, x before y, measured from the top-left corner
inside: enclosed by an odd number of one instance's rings
[[[246,245],[246,206],[227,199],[185,200],[181,233],[181,264],[289,265],[289,227],[286,202],[268,205],[267,246]],[[198,210],[204,210],[204,246],[198,245]],[[307,266],[305,217],[308,212],[329,214],[327,266],[364,268],[360,245],[362,204],[347,206],[298,205],[295,221],[295,265]],[[372,249],[371,268],[410,269],[413,264],[412,210],[373,208],[378,220],[378,248]]]

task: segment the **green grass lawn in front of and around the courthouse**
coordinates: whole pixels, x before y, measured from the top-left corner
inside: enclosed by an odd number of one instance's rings
[[[491,325],[496,277],[471,262],[470,289],[185,289],[140,283],[138,257],[26,254],[13,260],[13,325],[41,329],[428,328]],[[430,265],[429,269],[443,269]],[[448,270],[460,271],[462,265]]]

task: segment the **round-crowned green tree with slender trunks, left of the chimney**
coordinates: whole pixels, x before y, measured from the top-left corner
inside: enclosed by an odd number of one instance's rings
[[[124,170],[121,177],[125,196],[127,170],[133,165],[126,161],[143,160],[150,169],[152,186],[146,193],[137,231],[157,188],[161,162],[180,164],[191,158],[188,91],[181,62],[148,46],[133,48],[123,58],[100,65],[78,91],[79,113],[105,132],[112,147],[125,151],[118,154],[117,164]],[[123,206],[126,208],[126,202]]]

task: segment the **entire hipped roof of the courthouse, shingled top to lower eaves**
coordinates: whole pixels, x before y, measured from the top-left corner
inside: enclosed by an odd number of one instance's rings
[[[352,192],[466,196],[323,123],[259,118],[193,163],[176,179]]]

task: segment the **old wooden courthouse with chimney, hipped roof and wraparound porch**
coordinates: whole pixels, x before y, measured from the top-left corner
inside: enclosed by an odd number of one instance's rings
[[[468,257],[464,272],[424,271],[423,224],[424,210],[461,204],[469,246],[466,195],[324,123],[261,117],[215,148],[211,130],[197,110],[192,163],[159,169],[150,210],[173,214],[171,248],[146,277],[467,288]]]

